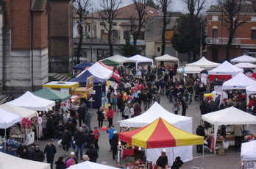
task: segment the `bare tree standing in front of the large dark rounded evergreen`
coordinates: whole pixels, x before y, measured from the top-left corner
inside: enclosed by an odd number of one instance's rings
[[[189,40],[192,45],[193,62],[196,61],[196,23],[202,19],[201,10],[205,5],[205,0],[184,0],[189,11]],[[191,62],[191,56],[188,57],[188,62]]]

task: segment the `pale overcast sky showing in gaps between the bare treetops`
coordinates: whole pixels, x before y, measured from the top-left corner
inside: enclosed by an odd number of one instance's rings
[[[100,3],[100,1],[102,1],[102,0],[97,0],[97,1]],[[99,3],[96,3],[96,4],[98,4],[96,6],[99,6]],[[156,0],[154,0],[154,3],[158,4],[158,2]],[[120,5],[120,7],[127,6],[128,4],[132,4],[132,0],[122,0],[122,3]],[[207,10],[208,7],[210,7],[211,4],[216,4],[216,0],[213,0],[213,1],[212,0],[206,0],[204,11]],[[93,5],[93,6],[95,6],[95,5]],[[182,13],[187,13],[188,12],[184,0],[172,0],[170,10],[173,11],[173,12],[182,12]]]

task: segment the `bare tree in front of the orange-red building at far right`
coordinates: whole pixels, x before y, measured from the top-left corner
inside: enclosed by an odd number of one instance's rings
[[[246,9],[249,4],[242,4],[243,0],[218,0],[221,12],[224,13],[223,26],[229,31],[229,40],[226,46],[226,60],[230,61],[230,49],[238,26],[246,23]],[[242,13],[243,12],[243,13]]]

